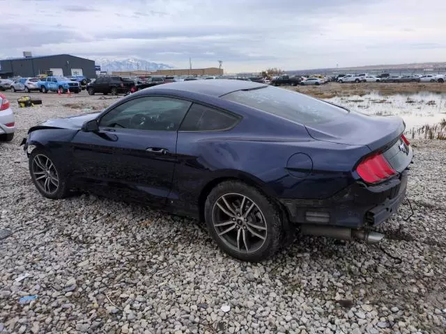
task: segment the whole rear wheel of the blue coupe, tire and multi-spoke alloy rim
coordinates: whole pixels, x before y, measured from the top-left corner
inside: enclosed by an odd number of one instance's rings
[[[239,260],[266,260],[282,241],[282,220],[275,204],[242,182],[215,186],[206,199],[205,218],[220,248]]]

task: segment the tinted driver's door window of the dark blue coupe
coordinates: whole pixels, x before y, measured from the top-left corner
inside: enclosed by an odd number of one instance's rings
[[[109,111],[99,127],[147,131],[176,131],[191,102],[171,97],[139,97]]]

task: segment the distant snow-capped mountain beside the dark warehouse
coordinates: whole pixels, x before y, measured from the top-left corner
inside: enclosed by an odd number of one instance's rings
[[[101,71],[129,71],[129,70],[168,70],[173,68],[170,65],[163,63],[153,63],[152,61],[145,61],[138,58],[102,58],[97,57],[95,65],[100,65]]]

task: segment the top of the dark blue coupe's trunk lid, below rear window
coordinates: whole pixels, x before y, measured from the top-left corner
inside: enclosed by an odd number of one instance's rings
[[[353,111],[329,122],[305,125],[312,138],[346,145],[367,145],[371,151],[383,148],[404,131],[397,116],[367,116]]]

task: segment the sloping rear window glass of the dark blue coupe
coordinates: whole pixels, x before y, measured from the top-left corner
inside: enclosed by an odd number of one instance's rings
[[[328,122],[348,113],[346,109],[339,106],[271,86],[253,90],[237,90],[222,96],[222,99],[259,109],[302,125]]]

